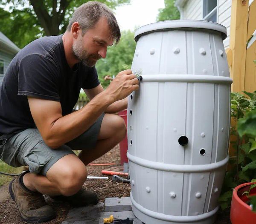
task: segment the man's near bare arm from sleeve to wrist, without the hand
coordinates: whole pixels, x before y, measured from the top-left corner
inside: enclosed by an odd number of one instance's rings
[[[63,117],[60,102],[34,97],[28,97],[28,101],[42,138],[53,149],[85,132],[112,103],[111,99],[102,93],[82,109]]]

